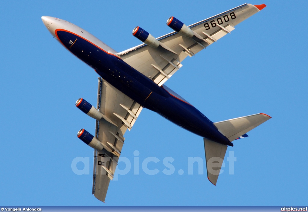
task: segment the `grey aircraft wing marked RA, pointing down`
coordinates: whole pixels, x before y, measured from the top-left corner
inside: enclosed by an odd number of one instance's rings
[[[99,77],[97,108],[104,119],[96,121],[95,137],[103,144],[94,152],[92,194],[104,202],[110,180],[124,144],[124,133],[131,129],[142,107]]]

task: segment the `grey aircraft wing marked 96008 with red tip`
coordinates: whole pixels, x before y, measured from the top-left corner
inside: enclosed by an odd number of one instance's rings
[[[238,23],[264,7],[265,4],[243,4],[188,26],[194,32],[193,38],[173,31],[157,38],[164,47],[154,48],[141,44],[118,55],[130,66],[161,86],[182,67],[181,62],[187,56],[191,57],[217,42],[218,39],[233,31]]]

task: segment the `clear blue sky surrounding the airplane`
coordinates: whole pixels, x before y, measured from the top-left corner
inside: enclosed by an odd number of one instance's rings
[[[307,1],[248,2],[267,7],[184,60],[166,83],[214,122],[259,112],[273,117],[228,148],[226,155],[237,157],[233,175],[226,158],[216,186],[197,164],[189,175],[188,157],[205,160],[203,139],[144,109],[125,134],[122,156],[131,170],[111,181],[107,204],[91,195],[93,150],[76,134],[94,134],[95,120],[75,101],[96,104],[97,74],[52,38],[41,16],[73,22],[120,52],[141,43],[131,35],[136,26],[159,37],[172,31],[170,16],[190,25],[243,3],[1,1],[0,205],[307,205]],[[77,163],[89,174],[73,172],[76,157],[89,159]],[[149,164],[159,173],[142,171],[147,157],[159,159]],[[166,157],[174,159],[171,175],[162,172]]]

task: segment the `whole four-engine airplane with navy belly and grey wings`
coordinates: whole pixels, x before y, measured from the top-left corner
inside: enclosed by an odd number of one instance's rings
[[[104,202],[124,144],[142,108],[154,111],[174,124],[203,137],[207,176],[217,183],[222,160],[232,141],[269,120],[265,113],[213,122],[164,83],[196,55],[266,5],[243,4],[231,10],[185,25],[167,20],[171,33],[154,38],[136,27],[132,35],[143,43],[117,52],[89,32],[63,19],[42,16],[51,35],[68,51],[93,68],[98,77],[97,104],[80,98],[76,107],[96,120],[95,135],[81,129],[77,137],[95,149],[92,194]],[[214,163],[213,159],[218,163]],[[211,160],[210,160],[211,159]]]

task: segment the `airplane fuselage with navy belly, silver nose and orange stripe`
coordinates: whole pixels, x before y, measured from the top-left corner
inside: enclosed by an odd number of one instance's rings
[[[217,130],[213,122],[199,110],[180,96],[176,96],[168,87],[159,87],[151,79],[125,63],[115,50],[87,31],[62,19],[48,16],[43,16],[42,19],[51,34],[68,51],[144,108],[160,114],[201,137],[233,146]]]

